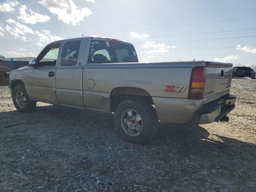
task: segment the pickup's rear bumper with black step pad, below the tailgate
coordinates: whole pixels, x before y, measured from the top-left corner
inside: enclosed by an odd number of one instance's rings
[[[235,108],[236,95],[225,95],[213,102],[205,104],[194,115],[194,124],[207,124],[219,121]]]

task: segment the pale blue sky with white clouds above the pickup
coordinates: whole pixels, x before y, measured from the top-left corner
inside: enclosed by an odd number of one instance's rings
[[[256,65],[256,0],[0,0],[0,55],[36,57],[48,43],[104,36],[140,62]]]

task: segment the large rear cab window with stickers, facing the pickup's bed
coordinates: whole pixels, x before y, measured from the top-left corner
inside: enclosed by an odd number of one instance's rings
[[[133,46],[112,41],[92,40],[89,63],[138,62]]]

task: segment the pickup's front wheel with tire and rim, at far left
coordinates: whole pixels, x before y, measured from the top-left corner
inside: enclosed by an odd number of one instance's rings
[[[32,112],[36,108],[36,101],[28,97],[24,85],[17,85],[12,91],[12,101],[19,112]]]

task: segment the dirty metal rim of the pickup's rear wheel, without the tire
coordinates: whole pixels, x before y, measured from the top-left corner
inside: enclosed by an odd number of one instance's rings
[[[138,112],[128,109],[122,113],[121,125],[129,136],[138,136],[142,132],[143,121]]]

